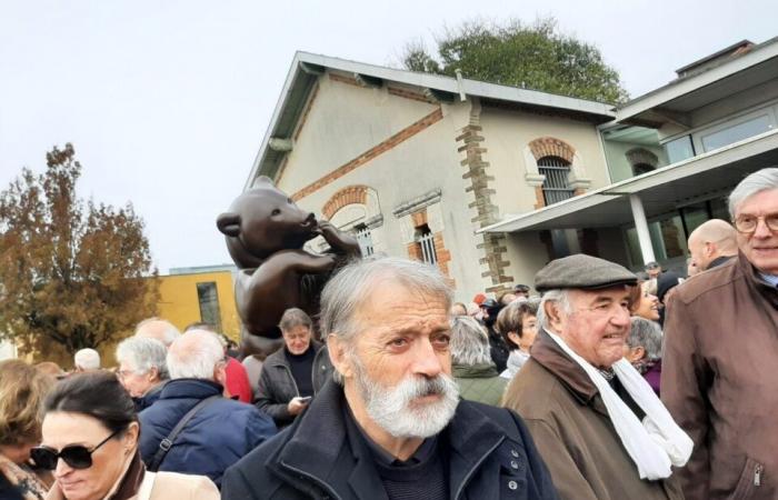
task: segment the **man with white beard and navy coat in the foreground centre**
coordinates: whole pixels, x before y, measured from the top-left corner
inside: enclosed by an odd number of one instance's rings
[[[337,382],[228,471],[222,498],[556,499],[521,419],[459,399],[450,306],[436,268],[343,268],[321,296]]]

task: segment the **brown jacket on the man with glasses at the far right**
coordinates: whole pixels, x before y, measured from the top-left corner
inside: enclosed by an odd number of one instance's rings
[[[778,291],[745,256],[684,282],[665,323],[661,399],[695,441],[691,500],[778,498]]]

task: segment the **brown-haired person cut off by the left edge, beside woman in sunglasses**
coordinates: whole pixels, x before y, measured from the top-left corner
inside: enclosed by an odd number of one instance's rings
[[[21,360],[0,361],[0,499],[43,500],[51,474],[31,467],[40,442],[38,409],[54,379]]]

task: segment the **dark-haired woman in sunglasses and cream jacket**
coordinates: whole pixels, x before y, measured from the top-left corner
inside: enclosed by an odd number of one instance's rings
[[[206,477],[146,471],[134,403],[113,373],[70,377],[48,396],[42,411],[43,439],[31,456],[53,470],[47,500],[219,498]]]

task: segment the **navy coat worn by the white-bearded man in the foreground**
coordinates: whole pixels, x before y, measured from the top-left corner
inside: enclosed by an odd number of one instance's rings
[[[302,418],[227,471],[222,499],[386,499],[373,456],[348,439],[345,403],[342,388],[328,382]],[[451,498],[557,498],[516,413],[460,401],[440,436]]]

